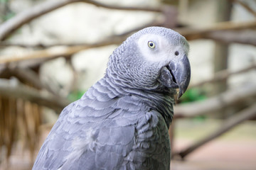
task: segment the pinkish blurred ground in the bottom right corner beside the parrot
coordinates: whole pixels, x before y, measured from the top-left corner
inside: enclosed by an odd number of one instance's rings
[[[177,140],[179,145],[191,143]],[[171,170],[255,170],[256,141],[228,142],[215,140],[188,155],[183,161],[173,160]]]

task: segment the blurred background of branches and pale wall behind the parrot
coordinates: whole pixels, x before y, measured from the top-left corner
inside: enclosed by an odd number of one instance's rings
[[[60,111],[147,26],[190,44],[171,169],[256,169],[255,0],[0,0],[0,169],[31,169]]]

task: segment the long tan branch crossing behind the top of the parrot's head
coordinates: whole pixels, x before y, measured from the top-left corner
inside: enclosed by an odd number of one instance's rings
[[[161,26],[161,21],[154,21],[153,23],[149,23],[146,26]],[[253,28],[256,27],[256,22],[245,22],[245,23],[230,23],[230,22],[223,22],[218,23],[215,26],[210,28],[177,28],[176,31],[184,35],[187,40],[195,40],[196,38],[204,38],[204,35],[207,33],[211,33],[217,30],[239,30],[244,28]],[[135,28],[134,30],[137,30]],[[80,50],[87,50],[92,47],[102,47],[105,45],[112,45],[112,44],[119,44],[124,41],[127,36],[133,31],[129,31],[122,35],[111,36],[102,42],[97,42],[94,44],[83,44],[83,45],[75,45],[70,47],[51,47],[46,50],[37,50],[33,52],[28,52],[23,55],[8,55],[8,56],[0,56],[0,64],[7,64],[10,62],[20,62],[23,60],[31,60],[31,59],[39,59],[39,58],[54,58],[60,56],[68,56],[73,55]]]

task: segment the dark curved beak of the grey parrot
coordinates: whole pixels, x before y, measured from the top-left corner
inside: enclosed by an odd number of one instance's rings
[[[184,55],[178,61],[170,62],[160,72],[160,82],[172,89],[179,89],[178,98],[185,93],[191,79],[191,67],[188,57]]]

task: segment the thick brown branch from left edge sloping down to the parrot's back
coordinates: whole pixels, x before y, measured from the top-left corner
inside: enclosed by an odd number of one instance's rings
[[[46,91],[38,91],[12,79],[0,79],[0,96],[11,98],[22,98],[41,106],[52,108],[55,111],[62,111],[70,102],[64,98],[53,96]]]

